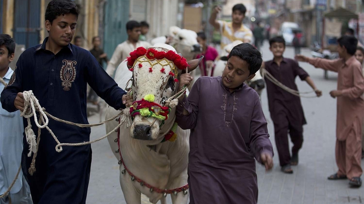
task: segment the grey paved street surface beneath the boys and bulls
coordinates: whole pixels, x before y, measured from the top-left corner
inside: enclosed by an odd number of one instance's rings
[[[273,58],[266,42],[263,46],[264,60]],[[287,48],[285,57],[293,57],[293,48]],[[309,49],[302,53],[310,56]],[[308,64],[301,64],[312,77],[317,87],[324,93],[321,98],[304,99],[305,116],[308,124],[304,127],[304,144],[300,151],[300,163],[293,167],[294,174],[287,175],[280,171],[278,155],[274,143],[273,124],[268,111],[266,91],[262,94],[262,107],[268,121],[275,156],[274,167],[270,172],[257,164],[259,204],[345,204],[364,203],[364,187],[349,188],[347,180],[329,181],[327,176],[336,172],[335,163],[335,120],[336,100],[329,91],[336,89],[337,74],[330,72],[329,79],[323,78],[323,70],[315,69]],[[297,77],[300,91],[309,91],[310,87]],[[104,117],[103,117],[104,118]],[[89,118],[90,123],[98,122],[98,115]],[[94,127],[91,139],[105,134],[104,126]],[[107,140],[92,144],[91,178],[88,188],[88,204],[124,204],[119,185],[119,165],[112,154]],[[362,160],[362,167],[364,167]],[[363,177],[362,177],[363,178]],[[244,185],[244,184],[242,184]],[[170,199],[169,202],[171,203]]]

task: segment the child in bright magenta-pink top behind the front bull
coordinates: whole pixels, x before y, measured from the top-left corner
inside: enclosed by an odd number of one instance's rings
[[[196,58],[200,58],[201,55],[204,56],[204,58],[202,59],[202,61],[200,62],[200,65],[199,65],[199,67],[201,69],[201,76],[208,76],[209,68],[210,68],[210,69],[212,69],[211,70],[211,77],[212,77],[213,73],[214,73],[214,68],[215,68],[214,61],[219,54],[217,53],[217,50],[215,48],[213,48],[211,46],[207,46],[205,33],[203,33],[203,32],[197,33],[197,42],[202,47],[202,53],[198,54],[196,56]]]

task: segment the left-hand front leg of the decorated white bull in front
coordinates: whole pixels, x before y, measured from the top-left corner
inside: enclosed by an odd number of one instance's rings
[[[120,165],[120,186],[127,204],[141,204],[141,193],[133,186],[129,174],[121,174],[123,166]]]

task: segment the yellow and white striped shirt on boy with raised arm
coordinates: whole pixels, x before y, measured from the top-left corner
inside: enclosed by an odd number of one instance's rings
[[[246,41],[249,43],[252,42],[253,33],[248,27],[244,24],[241,25],[240,29],[233,33],[233,23],[226,21],[218,21],[220,24],[220,33],[221,33],[221,49],[227,44],[232,43],[236,40]]]

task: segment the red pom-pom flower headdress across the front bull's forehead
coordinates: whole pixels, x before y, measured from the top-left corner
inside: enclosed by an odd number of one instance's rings
[[[139,47],[130,53],[130,57],[126,58],[128,66],[132,66],[132,68],[129,69],[130,71],[133,71],[136,60],[138,60],[139,57],[143,57],[143,56],[145,56],[149,60],[162,60],[162,59],[166,58],[167,60],[173,62],[175,67],[177,67],[178,69],[182,69],[182,70],[189,67],[189,65],[187,64],[186,58],[181,57],[179,54],[173,52],[173,50],[164,52],[164,51],[158,51],[154,48],[145,49],[143,47]],[[139,66],[139,68],[142,67],[141,64],[139,64],[138,66]],[[149,71],[152,72],[152,69],[149,68]],[[162,68],[161,72],[164,73],[164,71],[165,71],[164,68]],[[178,72],[178,70],[172,70],[170,75],[172,75],[174,77],[175,75],[178,74],[177,72]],[[175,81],[178,81],[178,80],[175,79]]]

